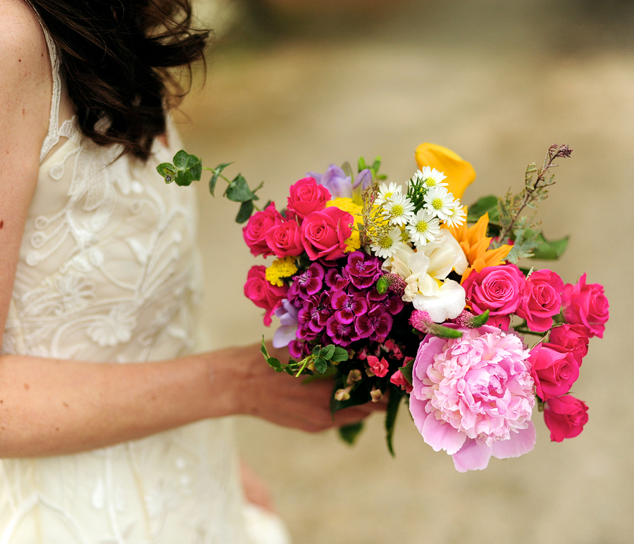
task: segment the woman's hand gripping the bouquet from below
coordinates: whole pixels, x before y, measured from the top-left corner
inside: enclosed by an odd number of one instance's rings
[[[267,345],[271,357],[288,360],[286,349]],[[230,355],[223,350],[223,355]],[[275,372],[266,365],[259,345],[231,348],[235,377],[228,384],[235,394],[232,412],[261,417],[278,425],[316,432],[334,426],[360,422],[372,412],[385,410],[385,403],[366,403],[335,412],[332,418],[331,379],[316,379],[304,384],[302,378]]]

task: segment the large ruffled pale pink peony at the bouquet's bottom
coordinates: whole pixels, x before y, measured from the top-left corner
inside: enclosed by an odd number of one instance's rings
[[[529,352],[514,334],[485,325],[461,339],[425,337],[414,362],[409,409],[426,443],[459,472],[535,445]]]

